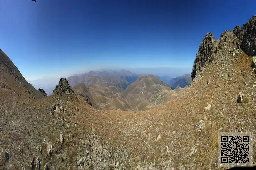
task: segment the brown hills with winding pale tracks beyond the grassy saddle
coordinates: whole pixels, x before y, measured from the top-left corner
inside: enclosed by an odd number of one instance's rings
[[[113,77],[113,74],[107,72],[104,74],[101,72],[100,74],[100,77],[104,77],[105,80],[100,79],[99,74],[95,72],[89,72],[89,74],[83,74],[83,76],[80,75],[85,79],[87,78],[87,80],[76,84],[72,88],[76,94],[84,96],[87,103],[96,109],[120,109],[124,111],[148,110],[176,97],[182,91],[182,89],[180,91],[172,90],[169,84],[159,80],[155,75],[140,75],[135,82],[129,84],[126,89],[122,89],[117,86],[117,83],[107,82],[107,80],[113,80],[110,78]],[[135,77],[137,75],[133,76]],[[78,80],[78,77],[75,77],[76,80]],[[93,81],[89,81],[91,79]],[[74,82],[74,76],[69,78],[69,80]],[[81,79],[79,80],[81,81]],[[120,78],[120,80],[123,81],[126,79]]]

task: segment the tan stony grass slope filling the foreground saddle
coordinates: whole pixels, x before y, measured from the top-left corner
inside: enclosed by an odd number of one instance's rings
[[[249,103],[240,104],[236,99],[240,88],[246,96],[256,94],[252,88],[256,79],[251,60],[244,54],[228,62],[217,61],[177,98],[140,112],[95,110],[81,97],[18,98],[9,89],[0,88],[0,113],[4,113],[0,118],[0,153],[12,155],[8,164],[0,162],[0,166],[29,168],[33,156],[39,156],[42,166],[48,164],[50,169],[219,169],[217,132],[255,132],[255,101],[250,98]],[[229,70],[234,73],[231,81]],[[67,111],[50,115],[53,103],[60,103]],[[209,103],[212,108],[205,111]],[[196,132],[200,120],[205,128]],[[60,133],[64,135],[62,144]],[[161,138],[156,142],[158,135]],[[54,149],[52,156],[46,152],[48,142]],[[191,155],[192,147],[197,152]],[[80,156],[87,161],[83,166],[77,165]]]

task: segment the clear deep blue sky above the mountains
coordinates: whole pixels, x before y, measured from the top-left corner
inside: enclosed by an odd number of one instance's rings
[[[1,0],[0,48],[25,78],[93,68],[193,67],[207,32],[242,26],[254,1]]]

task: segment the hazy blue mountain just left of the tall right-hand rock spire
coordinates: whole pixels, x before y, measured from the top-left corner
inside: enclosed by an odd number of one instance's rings
[[[182,76],[176,77],[176,78],[172,78],[169,81],[169,84],[171,85],[172,89],[175,89],[177,86],[184,88],[187,85],[189,85],[191,83],[192,79],[191,79],[191,75],[190,74],[184,74]]]

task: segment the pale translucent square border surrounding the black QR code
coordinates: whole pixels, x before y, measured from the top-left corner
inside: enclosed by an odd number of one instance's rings
[[[249,136],[249,163],[221,163],[221,136]],[[242,142],[243,143],[243,142]],[[234,166],[253,166],[253,132],[218,132],[218,166],[219,167],[234,167]]]

